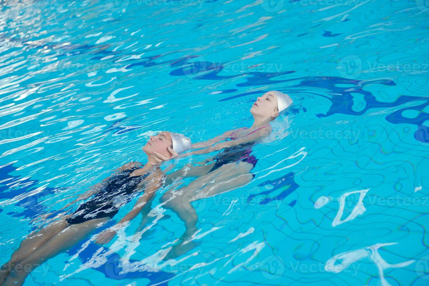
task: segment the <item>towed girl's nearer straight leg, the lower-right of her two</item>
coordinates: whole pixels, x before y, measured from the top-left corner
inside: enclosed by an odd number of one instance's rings
[[[73,245],[85,238],[86,235],[107,220],[109,219],[100,218],[67,226],[42,244],[41,247],[37,248],[30,256],[22,260],[19,264],[24,266],[24,268],[20,267],[20,269],[15,268],[12,270],[3,285],[22,285],[25,278],[34,268],[42,265],[46,260],[57,254],[69,250]]]

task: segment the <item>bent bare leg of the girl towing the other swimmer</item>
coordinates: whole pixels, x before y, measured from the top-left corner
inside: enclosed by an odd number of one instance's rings
[[[196,232],[198,222],[198,216],[191,203],[248,184],[253,179],[253,175],[250,173],[252,167],[252,164],[245,162],[226,164],[178,190],[181,193],[179,196],[172,196],[171,193],[164,194],[161,200],[165,202],[165,207],[174,211],[184,221],[186,227],[186,231],[181,237],[181,243],[173,247],[166,259],[181,255],[190,247],[184,246],[190,243],[189,239]],[[182,249],[179,250],[181,247]]]

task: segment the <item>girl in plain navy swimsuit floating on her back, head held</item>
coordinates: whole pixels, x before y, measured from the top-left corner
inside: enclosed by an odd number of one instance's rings
[[[148,156],[148,162],[144,166],[138,162],[124,164],[116,169],[112,176],[95,184],[87,193],[64,207],[88,199],[73,214],[63,216],[38,232],[30,234],[21,242],[9,262],[1,267],[0,284],[22,285],[34,268],[51,257],[69,250],[99,226],[111,220],[122,206],[139,197],[127,215],[95,238],[97,244],[109,243],[119,229],[129,225],[140,213],[162,185],[164,176],[161,170],[154,166],[156,160],[151,156],[152,152],[171,157],[173,153],[178,154],[190,148],[190,139],[181,134],[160,132],[156,136],[150,136],[142,148]],[[24,271],[22,266],[25,267]]]

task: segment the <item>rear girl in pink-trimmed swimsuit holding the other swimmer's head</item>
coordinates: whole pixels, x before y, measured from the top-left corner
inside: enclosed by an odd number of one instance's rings
[[[257,98],[250,112],[254,123],[250,128],[244,127],[224,132],[224,134],[208,141],[194,143],[193,149],[202,148],[174,157],[190,154],[208,154],[223,150],[215,157],[201,162],[200,166],[188,164],[184,168],[167,175],[166,184],[175,178],[196,177],[186,187],[175,192],[166,192],[161,198],[166,208],[174,211],[184,221],[186,231],[178,244],[174,245],[164,259],[175,258],[195,247],[192,235],[197,231],[198,216],[191,203],[221,193],[229,192],[248,184],[253,178],[251,170],[257,163],[252,155],[252,148],[271,133],[270,121],[281,111],[292,104],[290,96],[279,91],[269,91]],[[157,154],[158,162],[170,160],[169,157]],[[178,195],[180,194],[180,195]]]

